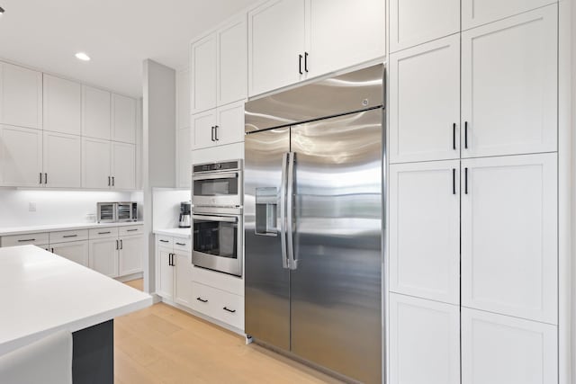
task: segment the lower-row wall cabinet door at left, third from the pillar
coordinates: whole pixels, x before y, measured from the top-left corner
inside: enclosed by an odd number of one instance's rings
[[[44,186],[82,186],[82,139],[76,135],[44,131]]]

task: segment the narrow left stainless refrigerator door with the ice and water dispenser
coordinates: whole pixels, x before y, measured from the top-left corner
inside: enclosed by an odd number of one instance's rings
[[[245,329],[258,341],[290,351],[290,270],[283,266],[280,225],[290,129],[247,135],[245,150]]]

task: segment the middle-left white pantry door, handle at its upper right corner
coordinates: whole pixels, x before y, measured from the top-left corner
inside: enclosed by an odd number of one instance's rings
[[[460,162],[390,167],[390,290],[460,303]]]

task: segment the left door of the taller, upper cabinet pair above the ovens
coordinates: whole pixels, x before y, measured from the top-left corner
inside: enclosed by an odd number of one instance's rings
[[[193,42],[190,47],[190,112],[202,112],[216,107],[216,33]]]

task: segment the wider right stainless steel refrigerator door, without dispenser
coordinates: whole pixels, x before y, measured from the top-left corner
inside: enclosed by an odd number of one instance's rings
[[[382,381],[382,123],[376,109],[291,138],[292,352],[362,382]]]

